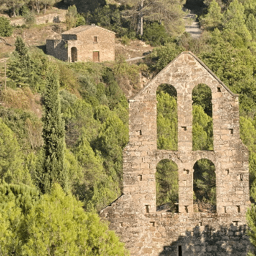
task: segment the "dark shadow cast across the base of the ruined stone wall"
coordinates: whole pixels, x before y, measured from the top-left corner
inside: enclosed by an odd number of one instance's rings
[[[246,256],[249,251],[255,253],[254,246],[246,236],[246,225],[237,224],[221,226],[218,230],[208,225],[196,226],[184,236],[179,236],[170,246],[164,246],[159,256]]]

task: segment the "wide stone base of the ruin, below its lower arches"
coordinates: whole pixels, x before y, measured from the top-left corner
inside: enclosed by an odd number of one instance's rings
[[[122,198],[117,203],[125,205]],[[182,256],[246,256],[255,250],[243,214],[121,214],[109,206],[100,216],[134,256],[178,256],[179,247]]]

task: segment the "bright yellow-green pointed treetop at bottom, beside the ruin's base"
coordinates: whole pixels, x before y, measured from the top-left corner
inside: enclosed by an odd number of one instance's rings
[[[86,214],[81,206],[55,184],[26,218],[29,238],[22,247],[23,254],[127,255],[113,231],[97,214]]]

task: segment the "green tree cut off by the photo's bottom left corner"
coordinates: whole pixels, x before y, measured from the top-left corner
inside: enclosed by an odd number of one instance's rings
[[[22,255],[26,241],[24,219],[39,200],[37,189],[15,184],[0,185],[0,255]]]

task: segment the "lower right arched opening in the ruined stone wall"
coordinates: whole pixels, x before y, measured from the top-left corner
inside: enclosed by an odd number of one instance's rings
[[[194,211],[216,212],[216,174],[214,163],[200,159],[194,165]]]

